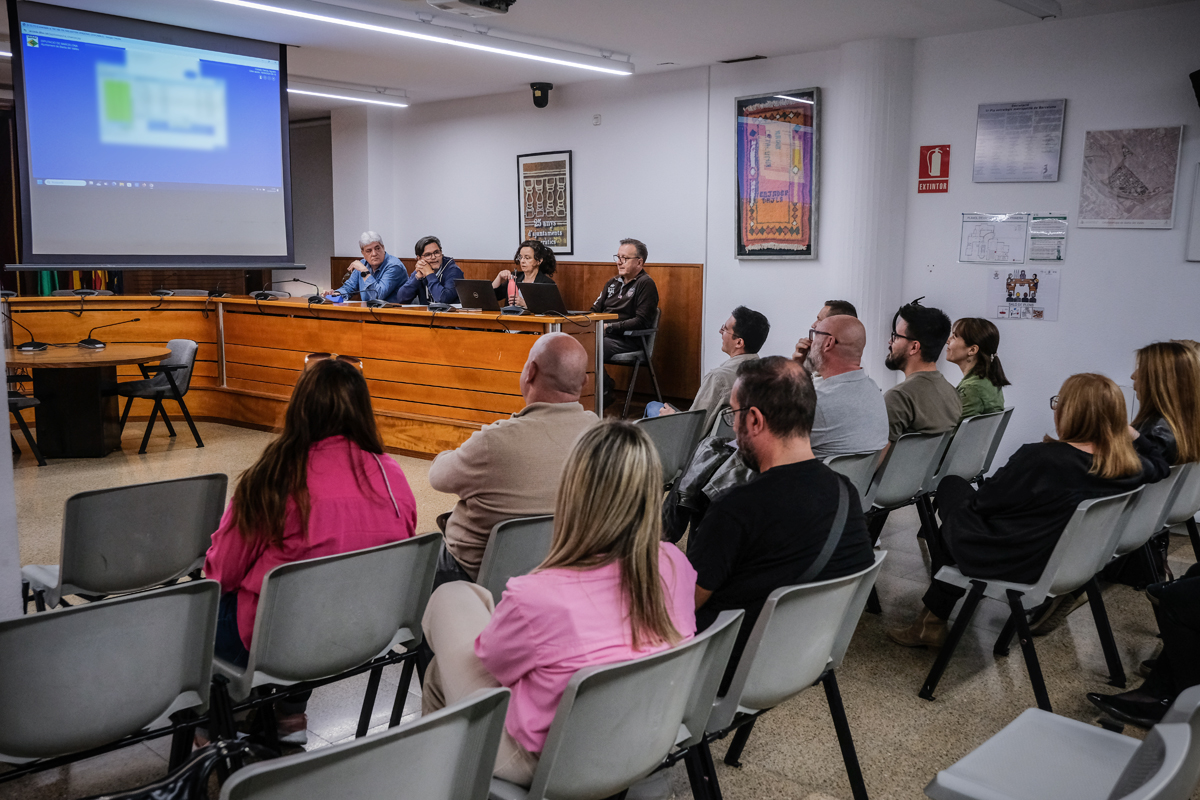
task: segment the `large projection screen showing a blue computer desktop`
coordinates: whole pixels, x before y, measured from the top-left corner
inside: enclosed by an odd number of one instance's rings
[[[278,46],[36,4],[18,14],[23,260],[292,260]]]

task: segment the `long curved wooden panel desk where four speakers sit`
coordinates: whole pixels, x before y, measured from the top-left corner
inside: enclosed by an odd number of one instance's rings
[[[94,326],[134,317],[140,321],[97,331],[98,338],[158,345],[193,339],[199,353],[187,395],[192,415],[250,427],[280,423],[306,354],[358,356],[384,444],[425,457],[457,447],[484,425],[523,408],[521,369],[538,335],[563,331],[587,349],[581,402],[599,413],[600,323],[614,319],[434,314],[414,307],[250,297],[95,296],[82,303],[77,297],[19,297],[7,306],[13,319],[43,342],[73,343]],[[16,337],[19,343],[28,335],[16,329]],[[118,367],[116,374],[140,377],[133,366]],[[132,415],[146,417],[150,408],[149,401],[134,401]]]

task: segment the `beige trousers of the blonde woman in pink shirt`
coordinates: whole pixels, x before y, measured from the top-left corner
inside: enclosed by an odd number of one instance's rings
[[[452,705],[480,688],[500,685],[475,655],[475,638],[492,619],[494,608],[492,593],[466,581],[443,584],[430,596],[421,630],[434,656],[425,670],[421,714]],[[492,774],[528,787],[536,769],[538,753],[527,751],[504,730]]]

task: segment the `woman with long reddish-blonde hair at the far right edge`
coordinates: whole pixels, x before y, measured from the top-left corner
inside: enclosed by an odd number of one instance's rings
[[[1168,464],[1200,461],[1200,361],[1180,342],[1154,342],[1138,350],[1133,390],[1138,395],[1138,452],[1159,452]]]

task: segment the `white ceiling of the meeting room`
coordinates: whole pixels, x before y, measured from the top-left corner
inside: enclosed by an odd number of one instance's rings
[[[407,91],[409,102],[494,95],[533,80],[628,80],[445,44],[346,29],[214,0],[53,0],[54,5],[248,36],[294,46],[288,72],[331,82]],[[262,0],[270,4],[272,0]],[[1063,17],[1166,5],[1168,0],[1060,0]],[[379,14],[434,14],[424,0],[336,0]],[[845,42],[919,38],[1012,25],[1037,18],[998,0],[516,0],[508,14],[473,20],[493,30],[629,55],[637,73],[678,70],[751,55],[788,55]],[[0,29],[7,28],[7,20]],[[292,96],[293,119],[319,116],[332,103]],[[403,112],[398,112],[403,113]]]

